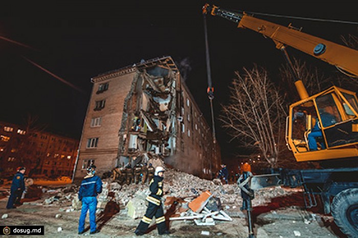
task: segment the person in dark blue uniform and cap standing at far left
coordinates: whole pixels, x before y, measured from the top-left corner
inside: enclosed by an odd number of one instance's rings
[[[15,174],[14,178],[12,179],[11,188],[10,188],[10,197],[8,200],[8,204],[6,205],[7,209],[13,209],[15,201],[20,201],[21,196],[25,190],[25,174],[26,168],[25,167],[18,167],[17,173]]]

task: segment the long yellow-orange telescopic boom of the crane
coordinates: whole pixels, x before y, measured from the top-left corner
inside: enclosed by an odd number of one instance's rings
[[[349,74],[358,76],[358,51],[349,47],[303,33],[290,26],[262,20],[248,14],[223,10],[217,6],[204,5],[203,13],[221,16],[238,23],[238,28],[251,29],[266,37],[270,37],[278,49],[289,45],[306,54],[337,66]]]

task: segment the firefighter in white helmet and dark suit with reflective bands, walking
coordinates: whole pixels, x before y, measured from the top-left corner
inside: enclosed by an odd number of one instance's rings
[[[155,217],[156,227],[160,235],[170,234],[170,231],[165,225],[165,217],[163,211],[163,204],[161,198],[163,197],[163,179],[164,179],[164,168],[158,166],[155,168],[154,177],[149,183],[150,195],[146,198],[148,201],[148,207],[139,223],[135,233],[136,235],[144,235],[148,229],[150,222]]]

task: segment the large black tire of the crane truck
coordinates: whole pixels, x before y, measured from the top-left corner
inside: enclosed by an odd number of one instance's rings
[[[333,198],[335,224],[349,237],[358,237],[358,188],[342,191]]]

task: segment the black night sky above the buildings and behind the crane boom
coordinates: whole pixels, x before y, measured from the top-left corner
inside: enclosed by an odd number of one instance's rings
[[[49,130],[80,138],[89,101],[91,78],[110,70],[161,56],[186,64],[186,83],[211,124],[202,6],[286,16],[358,21],[352,1],[29,1],[2,4],[0,9],[0,120],[22,123],[39,116]],[[341,43],[357,25],[259,16]],[[214,112],[228,102],[235,70],[266,67],[273,80],[284,62],[270,39],[218,16],[207,16]],[[288,52],[328,67],[294,49]],[[37,65],[37,66],[36,66]],[[42,68],[40,68],[42,67]],[[47,73],[51,72],[51,74]],[[235,142],[216,120],[223,158]]]

